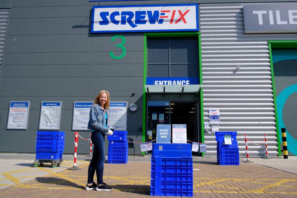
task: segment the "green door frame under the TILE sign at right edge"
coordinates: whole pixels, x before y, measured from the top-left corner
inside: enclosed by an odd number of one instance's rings
[[[281,153],[281,137],[279,136],[279,126],[278,126],[278,110],[276,103],[276,93],[275,93],[275,83],[274,83],[274,72],[273,72],[273,61],[272,61],[272,49],[281,48],[296,48],[297,41],[268,41],[269,47],[269,58],[270,58],[270,68],[271,68],[271,79],[272,79],[272,90],[273,90],[273,102],[274,102],[274,112],[275,112],[275,123],[276,123],[276,136],[278,139],[278,156],[282,156]]]

